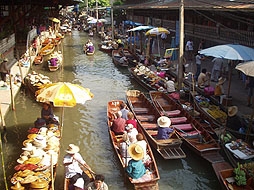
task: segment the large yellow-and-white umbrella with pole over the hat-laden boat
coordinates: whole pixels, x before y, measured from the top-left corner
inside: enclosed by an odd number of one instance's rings
[[[36,92],[38,102],[53,102],[55,107],[62,107],[61,127],[63,126],[63,108],[74,107],[77,103],[84,104],[93,98],[90,89],[68,82],[45,85]]]

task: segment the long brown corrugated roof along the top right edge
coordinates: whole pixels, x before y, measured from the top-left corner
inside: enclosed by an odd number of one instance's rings
[[[179,0],[167,1],[149,1],[141,4],[127,4],[119,6],[125,9],[179,9]],[[225,10],[225,9],[241,9],[253,10],[254,1],[247,1],[245,3],[225,1],[225,0],[184,0],[185,9],[199,9],[199,10]]]

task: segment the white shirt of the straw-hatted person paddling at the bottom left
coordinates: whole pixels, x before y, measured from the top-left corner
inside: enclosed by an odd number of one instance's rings
[[[71,164],[65,166],[66,178],[72,178],[77,173],[82,174],[83,172],[82,169],[79,167],[78,161],[81,162],[82,164],[85,164],[86,162],[83,160],[82,156],[79,153],[75,153],[74,158],[75,159],[73,159],[73,157],[70,154],[66,154],[64,156],[64,160],[63,160],[64,164],[72,162]]]

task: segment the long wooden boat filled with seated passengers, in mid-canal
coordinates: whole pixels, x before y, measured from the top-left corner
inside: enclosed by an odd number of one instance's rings
[[[121,166],[123,170],[125,169],[125,163],[123,161],[123,158],[121,156],[121,153],[119,151],[118,144],[122,142],[122,135],[115,135],[114,132],[111,130],[111,125],[112,125],[112,113],[115,113],[120,110],[120,104],[123,103],[123,101],[110,101],[108,102],[107,106],[107,120],[108,120],[108,131],[109,131],[109,136],[113,145],[113,148],[115,150],[115,153],[121,163]],[[143,131],[141,129],[141,126],[138,124],[138,132],[143,134]],[[147,139],[145,138],[144,135],[144,140],[147,143],[147,154],[151,158],[151,163],[149,164],[149,170],[152,172],[152,179],[149,181],[145,182],[133,182],[130,177],[127,177],[130,183],[134,186],[134,189],[147,189],[147,190],[156,190],[158,189],[158,180],[160,179],[158,168],[156,165],[156,161],[154,159],[152,150],[149,146],[149,143],[147,142]],[[126,176],[126,175],[125,175]]]

